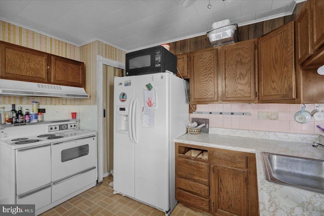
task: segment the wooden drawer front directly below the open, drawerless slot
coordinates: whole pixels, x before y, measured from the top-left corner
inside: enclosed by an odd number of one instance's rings
[[[208,185],[209,164],[185,158],[177,158],[177,177]]]

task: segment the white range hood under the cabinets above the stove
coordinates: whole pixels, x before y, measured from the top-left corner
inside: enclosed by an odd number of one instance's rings
[[[0,79],[0,95],[89,98],[84,88]]]

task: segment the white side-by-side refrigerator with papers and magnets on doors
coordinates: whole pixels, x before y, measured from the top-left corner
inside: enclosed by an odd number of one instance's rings
[[[175,142],[186,133],[187,81],[173,73],[114,77],[113,190],[169,215]]]

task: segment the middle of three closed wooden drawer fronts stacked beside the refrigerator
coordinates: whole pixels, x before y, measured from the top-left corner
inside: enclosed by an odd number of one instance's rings
[[[196,194],[198,196],[209,197],[209,186],[201,185],[185,179],[177,178],[177,188]]]

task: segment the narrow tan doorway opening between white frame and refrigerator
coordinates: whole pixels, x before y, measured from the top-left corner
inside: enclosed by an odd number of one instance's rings
[[[103,65],[103,173],[113,170],[113,77],[123,76],[124,70]]]

